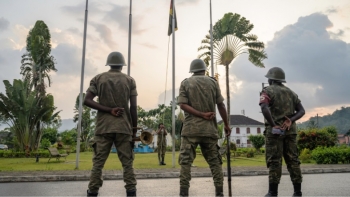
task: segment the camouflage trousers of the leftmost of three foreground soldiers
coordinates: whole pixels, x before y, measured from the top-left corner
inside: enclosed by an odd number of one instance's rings
[[[111,152],[112,145],[115,145],[120,162],[123,166],[123,178],[126,190],[136,189],[136,177],[133,168],[134,152],[131,135],[120,133],[106,133],[94,137],[93,167],[90,175],[89,191],[97,193],[102,187],[102,169]]]

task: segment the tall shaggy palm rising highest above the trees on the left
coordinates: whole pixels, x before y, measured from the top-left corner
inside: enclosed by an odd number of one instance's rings
[[[22,56],[21,74],[30,79],[39,93],[45,93],[44,79],[51,85],[50,71],[57,71],[51,53],[50,30],[44,21],[36,21],[27,36],[27,53]]]

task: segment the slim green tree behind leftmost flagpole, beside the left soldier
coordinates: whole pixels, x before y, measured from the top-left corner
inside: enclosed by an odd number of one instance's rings
[[[79,94],[75,100],[74,106],[74,117],[73,121],[79,121]],[[83,93],[83,100],[85,99],[85,93]],[[94,135],[95,130],[95,118],[96,118],[96,110],[92,110],[90,107],[83,105],[82,107],[82,119],[81,119],[81,140],[85,142],[85,146],[88,145],[88,140]],[[85,147],[87,148],[87,147]]]

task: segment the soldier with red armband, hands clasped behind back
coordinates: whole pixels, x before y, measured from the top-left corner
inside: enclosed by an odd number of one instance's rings
[[[271,68],[266,77],[270,86],[262,90],[259,102],[266,126],[266,165],[269,168],[269,191],[266,196],[278,195],[282,157],[293,182],[293,196],[302,196],[295,121],[305,114],[305,110],[298,95],[282,84],[286,80],[281,68]]]

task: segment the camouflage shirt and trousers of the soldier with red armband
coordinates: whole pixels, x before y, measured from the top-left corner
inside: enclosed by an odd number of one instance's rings
[[[285,116],[292,117],[300,103],[298,95],[283,84],[272,84],[263,89],[260,104],[268,103],[271,116],[276,125],[281,126]],[[272,134],[272,127],[265,120],[266,165],[269,168],[269,183],[279,184],[282,174],[282,156],[287,164],[293,183],[302,182],[295,122],[284,135]]]

